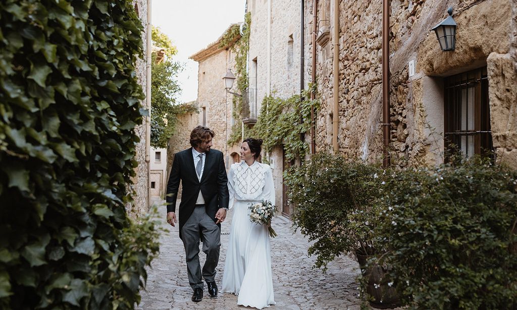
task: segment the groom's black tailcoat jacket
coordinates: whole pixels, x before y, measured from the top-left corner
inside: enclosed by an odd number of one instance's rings
[[[183,228],[183,225],[185,225],[185,222],[187,222],[195,208],[197,195],[200,190],[205,199],[206,214],[214,222],[217,222],[217,210],[228,207],[230,194],[228,193],[228,177],[224,167],[223,153],[211,149],[205,152],[205,155],[205,167],[201,181],[197,178],[195,171],[192,148],[174,155],[171,175],[167,183],[167,212],[176,212],[176,199],[179,181],[181,180],[183,190],[181,191],[178,214],[179,238],[181,238],[181,228]],[[221,227],[220,224],[219,227]]]

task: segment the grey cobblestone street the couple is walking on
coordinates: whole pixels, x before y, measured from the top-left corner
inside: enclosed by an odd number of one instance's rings
[[[179,203],[178,203],[179,205]],[[219,293],[210,298],[205,290],[203,300],[190,300],[192,289],[188,284],[183,243],[177,226],[165,222],[165,207],[159,207],[163,227],[169,232],[160,236],[160,255],[148,269],[147,288],[142,293],[138,309],[245,309],[237,306],[237,297]],[[181,216],[181,215],[179,215]],[[232,210],[222,225],[221,255],[217,267],[216,283],[221,288],[225,253],[231,226]],[[308,242],[299,233],[293,234],[291,222],[283,216],[273,219],[273,228],[278,237],[271,239],[273,288],[276,305],[271,309],[359,309],[355,277],[359,272],[357,262],[347,256],[339,257],[328,265],[324,274],[312,269],[315,257],[307,256]],[[200,251],[201,266],[205,254]]]

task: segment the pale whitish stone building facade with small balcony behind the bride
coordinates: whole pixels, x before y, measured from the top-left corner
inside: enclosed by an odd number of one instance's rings
[[[301,7],[299,1],[248,0],[251,12],[248,53],[249,88],[256,93],[257,111],[264,97],[288,98],[300,93]],[[306,80],[307,81],[307,80]],[[307,83],[304,83],[305,87]],[[260,138],[260,137],[255,137]],[[275,182],[276,205],[291,214],[283,188],[283,149],[264,150]]]

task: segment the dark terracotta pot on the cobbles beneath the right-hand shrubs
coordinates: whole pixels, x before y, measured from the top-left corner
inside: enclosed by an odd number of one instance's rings
[[[370,305],[374,308],[388,309],[396,308],[401,305],[400,298],[397,295],[397,291],[394,287],[389,287],[387,281],[384,278],[386,270],[379,265],[366,267],[368,259],[373,255],[362,255],[356,253],[359,267],[363,277],[368,280],[368,287],[366,291],[373,300],[370,300]]]

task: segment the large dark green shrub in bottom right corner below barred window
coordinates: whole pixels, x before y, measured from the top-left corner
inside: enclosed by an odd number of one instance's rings
[[[517,302],[517,172],[479,159],[393,174],[377,244],[413,307],[509,309]]]

